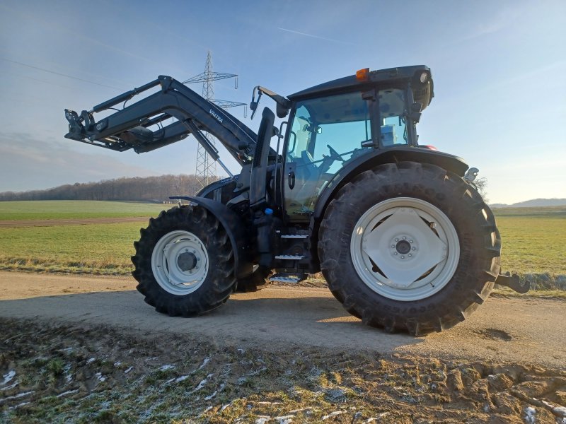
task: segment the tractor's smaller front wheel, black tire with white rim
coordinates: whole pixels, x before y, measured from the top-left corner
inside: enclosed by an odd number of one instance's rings
[[[181,206],[151,218],[134,242],[137,290],[158,312],[192,317],[228,300],[236,284],[226,230],[201,206]]]

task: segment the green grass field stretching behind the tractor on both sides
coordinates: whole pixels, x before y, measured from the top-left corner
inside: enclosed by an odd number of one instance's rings
[[[0,219],[140,217],[139,223],[0,228],[0,269],[129,273],[132,242],[150,216],[171,205],[105,201],[0,202]],[[31,211],[31,212],[30,212]],[[566,276],[566,208],[495,211],[502,270]]]

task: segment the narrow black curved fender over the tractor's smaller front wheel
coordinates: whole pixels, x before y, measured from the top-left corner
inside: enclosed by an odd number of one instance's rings
[[[229,209],[226,205],[218,201],[205,197],[195,196],[171,196],[169,199],[186,200],[202,206],[212,213],[220,221],[230,239],[234,254],[234,273],[236,279],[249,276],[253,271],[251,261],[251,247],[248,236],[246,235],[246,224],[236,212]]]

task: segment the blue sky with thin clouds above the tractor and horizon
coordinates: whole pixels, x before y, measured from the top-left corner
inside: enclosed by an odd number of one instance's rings
[[[64,139],[64,109],[90,110],[158,75],[185,81],[210,51],[214,71],[238,74],[237,90],[216,81],[214,97],[246,103],[257,85],[289,95],[357,69],[425,64],[435,98],[420,143],[478,167],[490,203],[564,198],[565,46],[564,0],[3,0],[0,192],[194,173],[192,136],[108,151]],[[230,112],[257,131],[259,114]]]

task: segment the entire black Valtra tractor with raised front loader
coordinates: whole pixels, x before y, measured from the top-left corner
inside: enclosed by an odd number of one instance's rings
[[[192,317],[236,290],[322,271],[365,324],[419,335],[461,322],[496,282],[529,290],[499,275],[501,240],[473,185],[478,170],[417,143],[434,97],[427,66],[362,69],[286,98],[258,86],[253,113],[262,95],[288,119],[277,129],[265,107],[258,134],[169,76],[65,111],[68,139],[144,153],[192,134],[229,174],[196,196],[172,196],[188,205],[151,218],[134,242],[137,290],[158,312]]]

